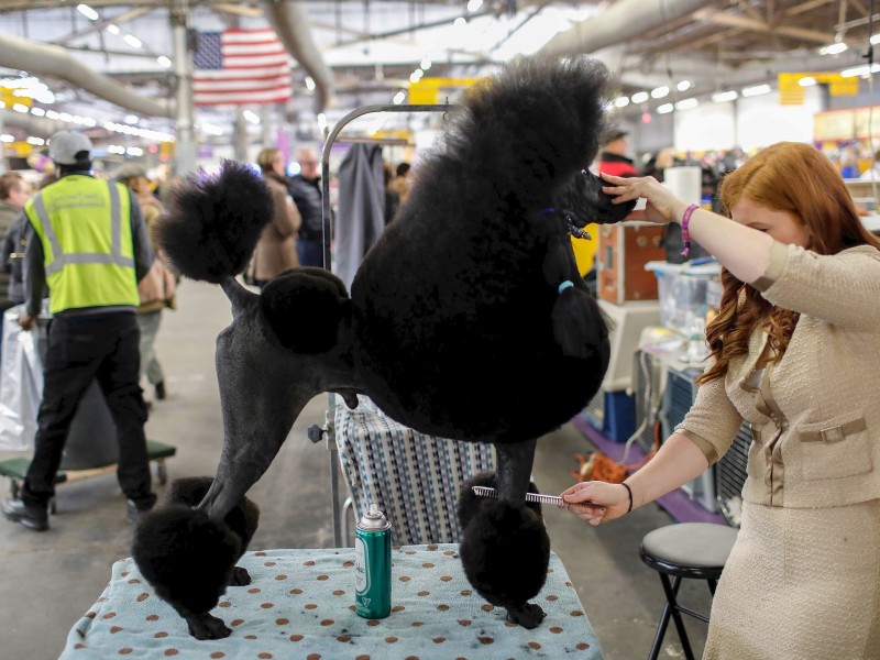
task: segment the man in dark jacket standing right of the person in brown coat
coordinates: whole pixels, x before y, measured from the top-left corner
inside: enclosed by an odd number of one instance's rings
[[[330,241],[330,219],[323,220],[321,177],[318,174],[318,155],[314,148],[300,148],[296,154],[299,174],[290,177],[288,190],[301,222],[296,249],[300,266],[323,267],[323,241]],[[329,264],[328,264],[329,265]]]

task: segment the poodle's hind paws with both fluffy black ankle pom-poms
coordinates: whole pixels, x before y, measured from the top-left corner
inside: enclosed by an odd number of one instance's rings
[[[194,476],[173,482],[167,505],[144,516],[132,544],[143,576],[186,619],[197,639],[229,636],[222,619],[209,613],[228,586],[251,584],[248,571],[235,562],[248,550],[260,520],[260,509],[246,497],[221,521],[194,510],[212,481]]]

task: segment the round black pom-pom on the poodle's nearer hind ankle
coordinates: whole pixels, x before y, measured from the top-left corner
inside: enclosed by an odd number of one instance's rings
[[[206,513],[172,504],[144,516],[132,556],[161,598],[178,610],[207,613],[226,592],[241,539]]]

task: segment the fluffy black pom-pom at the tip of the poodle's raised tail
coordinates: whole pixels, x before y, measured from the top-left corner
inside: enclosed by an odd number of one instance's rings
[[[261,176],[250,165],[224,161],[216,175],[188,175],[153,231],[180,274],[220,284],[244,271],[272,216]]]

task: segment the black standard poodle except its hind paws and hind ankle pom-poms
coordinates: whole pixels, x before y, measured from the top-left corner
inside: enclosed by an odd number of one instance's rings
[[[223,451],[191,516],[222,525],[316,395],[336,392],[353,407],[365,394],[424,433],[495,446],[498,499],[462,509],[464,570],[512,620],[540,624],[528,600],[543,584],[549,541],[525,502],[535,446],[584,408],[609,356],[571,237],[632,206],[610,204],[584,169],[609,92],[607,69],[586,58],[520,58],[472,88],[351,296],[308,267],[261,295],[245,289],[235,276],[272,218],[264,183],[232,162],[187,178],[158,221],[160,242],[180,273],[219,284],[232,304],[216,353]],[[516,570],[487,570],[508,565],[510,552]]]

